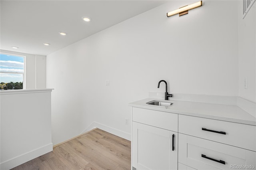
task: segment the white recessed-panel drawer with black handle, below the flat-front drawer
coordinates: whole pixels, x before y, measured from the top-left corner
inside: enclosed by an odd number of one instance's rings
[[[197,170],[230,170],[234,169],[234,166],[256,167],[256,152],[251,150],[186,134],[179,134],[178,138],[178,161]]]

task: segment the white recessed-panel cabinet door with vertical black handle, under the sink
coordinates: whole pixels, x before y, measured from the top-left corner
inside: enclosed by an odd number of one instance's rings
[[[139,170],[177,170],[178,133],[132,122],[132,166]]]

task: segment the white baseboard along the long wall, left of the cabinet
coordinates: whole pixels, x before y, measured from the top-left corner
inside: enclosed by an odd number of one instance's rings
[[[91,125],[89,125],[81,134],[83,134],[85,132],[88,132],[88,131],[90,131],[94,128],[100,128],[100,129],[102,129],[106,132],[109,132],[111,134],[114,134],[116,136],[124,138],[126,140],[131,140],[131,134],[130,133],[118,130],[116,128],[109,127],[107,125],[103,125],[103,124],[98,123],[98,122],[92,122]]]

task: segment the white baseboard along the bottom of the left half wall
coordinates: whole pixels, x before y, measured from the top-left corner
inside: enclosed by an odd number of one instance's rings
[[[25,162],[28,162],[34,158],[37,158],[38,156],[41,156],[41,155],[46,154],[51,151],[52,151],[52,143],[42,146],[40,148],[31,150],[30,152],[27,152],[20,156],[16,156],[16,157],[6,160],[4,162],[1,162],[0,169],[1,170],[10,170],[16,166],[19,166]]]

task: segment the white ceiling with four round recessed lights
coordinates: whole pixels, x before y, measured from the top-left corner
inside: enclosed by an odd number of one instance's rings
[[[163,3],[162,0],[1,0],[0,49],[48,55]],[[82,16],[92,21],[84,22]],[[61,36],[60,31],[67,35]],[[43,45],[44,42],[51,45]]]

